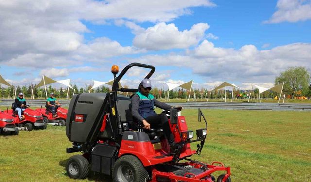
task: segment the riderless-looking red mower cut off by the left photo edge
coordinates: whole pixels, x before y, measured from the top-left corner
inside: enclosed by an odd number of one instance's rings
[[[19,130],[14,124],[14,117],[0,111],[0,135],[18,135]]]

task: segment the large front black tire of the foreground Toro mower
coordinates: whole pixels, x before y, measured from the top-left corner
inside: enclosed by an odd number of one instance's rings
[[[124,155],[113,165],[112,180],[113,182],[146,182],[148,172],[137,157]]]

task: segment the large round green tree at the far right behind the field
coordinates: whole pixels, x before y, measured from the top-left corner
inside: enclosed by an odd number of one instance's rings
[[[283,82],[283,92],[294,98],[294,94],[299,90],[304,94],[308,93],[310,74],[305,67],[289,67],[275,79],[275,85]]]

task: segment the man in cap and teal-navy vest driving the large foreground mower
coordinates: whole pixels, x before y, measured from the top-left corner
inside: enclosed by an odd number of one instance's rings
[[[171,106],[158,101],[153,95],[149,94],[151,90],[151,81],[147,78],[143,79],[138,87],[138,92],[133,94],[131,98],[132,116],[136,121],[143,124],[144,129],[161,128],[169,141],[171,150],[175,147],[175,139],[171,132],[170,125],[166,114],[156,114],[154,106],[161,109],[170,109]]]

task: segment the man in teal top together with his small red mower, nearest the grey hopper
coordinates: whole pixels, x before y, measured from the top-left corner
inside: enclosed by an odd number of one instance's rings
[[[65,126],[65,121],[67,117],[67,109],[62,108],[62,105],[54,98],[54,93],[50,94],[45,104],[46,109],[38,108],[37,112],[41,113],[44,122],[55,126]]]

